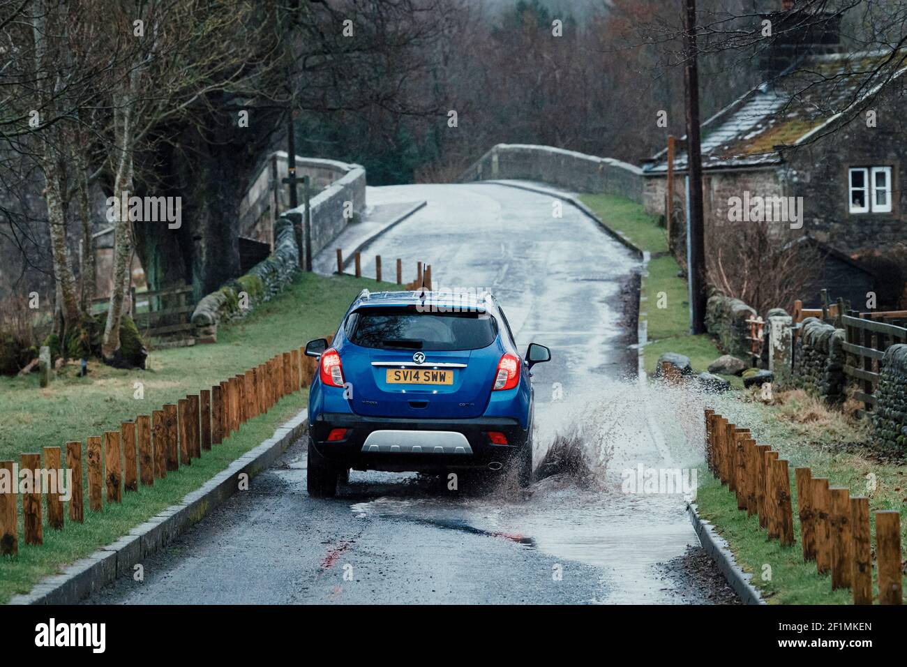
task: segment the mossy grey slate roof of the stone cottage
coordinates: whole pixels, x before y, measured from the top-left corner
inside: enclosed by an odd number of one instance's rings
[[[763,83],[702,123],[704,169],[759,167],[782,162],[776,146],[804,142],[854,104],[907,70],[905,52],[811,55],[790,74]],[[881,65],[881,69],[878,71]],[[686,139],[686,137],[684,137]],[[668,171],[667,149],[643,172]],[[675,169],[687,168],[678,151]]]

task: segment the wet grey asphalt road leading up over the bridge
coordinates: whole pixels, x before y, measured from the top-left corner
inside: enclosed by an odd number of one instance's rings
[[[413,185],[370,188],[368,199],[428,201],[368,256],[402,258],[405,280],[429,262],[435,289],[493,290],[520,347],[551,348],[533,371],[535,459],[578,429],[592,482],[561,475],[476,494],[354,471],[336,498],[317,500],[303,439],[144,564],[144,582],[121,580],[90,602],[708,602],[678,565],[697,546],[682,497],[620,493],[621,470],[695,461],[684,417],[701,416],[701,404],[623,379],[635,368],[624,309],[638,261],[571,206],[553,217],[546,195]]]

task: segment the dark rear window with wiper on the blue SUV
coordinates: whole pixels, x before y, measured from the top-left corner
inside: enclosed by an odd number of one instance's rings
[[[479,312],[367,308],[356,310],[346,322],[346,337],[364,348],[478,349],[491,345],[497,335],[494,318]]]

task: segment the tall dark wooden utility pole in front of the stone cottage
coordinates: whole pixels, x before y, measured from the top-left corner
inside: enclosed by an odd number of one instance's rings
[[[706,239],[702,212],[702,154],[699,150],[699,74],[697,72],[696,0],[684,0],[687,88],[687,267],[690,333],[706,332]]]

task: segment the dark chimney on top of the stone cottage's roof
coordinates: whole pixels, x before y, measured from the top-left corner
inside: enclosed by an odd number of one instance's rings
[[[759,68],[774,78],[807,55],[831,54],[841,44],[841,15],[796,9],[782,0],[782,9],[763,14],[772,22],[772,36],[759,57]]]

